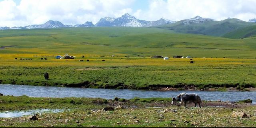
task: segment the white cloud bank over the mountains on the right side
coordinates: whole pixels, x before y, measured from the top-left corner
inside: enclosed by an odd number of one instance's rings
[[[152,0],[149,10],[140,12],[139,16],[145,20],[164,17],[179,21],[201,16],[215,20],[230,17],[248,21],[256,18],[255,5],[256,0]]]

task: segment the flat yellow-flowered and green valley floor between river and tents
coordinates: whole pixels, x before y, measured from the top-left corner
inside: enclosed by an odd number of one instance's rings
[[[153,90],[256,87],[256,59],[192,58],[195,63],[190,64],[187,58],[77,56],[75,59],[43,57],[47,60],[31,55],[17,60],[16,56],[2,56],[0,84]],[[49,80],[44,79],[44,72],[49,73]]]

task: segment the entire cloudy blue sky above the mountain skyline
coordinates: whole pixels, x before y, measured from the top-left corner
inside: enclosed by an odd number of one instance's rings
[[[248,21],[256,18],[256,0],[0,0],[0,26],[26,26],[58,20],[63,24],[96,24],[125,13],[140,20],[179,21],[195,16]]]

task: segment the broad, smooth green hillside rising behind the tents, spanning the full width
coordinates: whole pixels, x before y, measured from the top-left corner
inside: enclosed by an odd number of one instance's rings
[[[0,31],[0,54],[253,57],[255,39],[180,34],[159,28],[97,27]]]

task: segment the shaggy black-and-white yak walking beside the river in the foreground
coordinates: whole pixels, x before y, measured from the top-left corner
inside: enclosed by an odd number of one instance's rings
[[[180,101],[180,103],[184,104],[186,106],[187,103],[191,104],[194,103],[195,107],[196,104],[199,104],[199,107],[201,108],[202,100],[198,94],[186,94],[185,92],[182,92],[176,96],[176,98],[172,97],[172,104],[176,104],[176,101]]]

